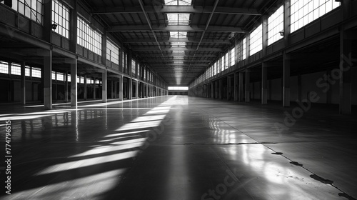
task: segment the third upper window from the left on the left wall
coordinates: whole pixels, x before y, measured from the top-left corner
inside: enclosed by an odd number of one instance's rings
[[[83,19],[77,18],[77,43],[101,56],[101,34],[94,30]]]

